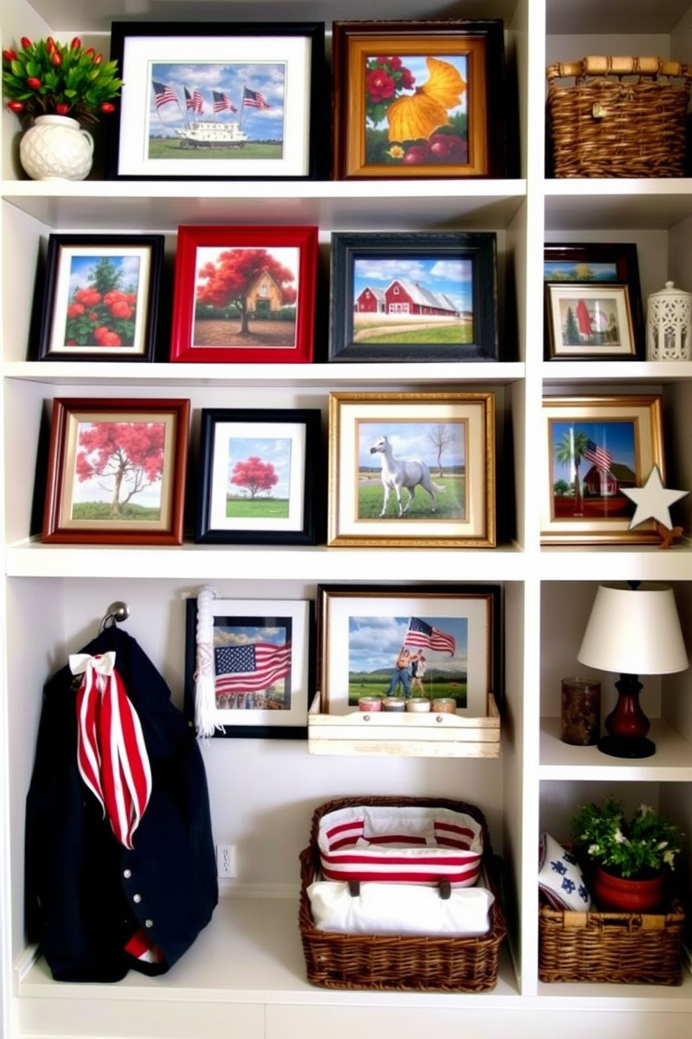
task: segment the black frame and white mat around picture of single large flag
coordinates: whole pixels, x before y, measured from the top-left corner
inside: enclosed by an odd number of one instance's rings
[[[300,717],[298,724],[282,724],[281,711],[251,709],[240,713],[234,711],[214,711],[215,738],[220,739],[264,739],[264,740],[306,740],[307,714],[314,696],[315,687],[315,606],[311,600],[281,601],[271,603],[245,600],[217,600],[214,608],[214,619],[255,622],[266,619],[276,627],[277,620],[283,615],[293,615],[294,628],[300,638],[300,703],[292,713]],[[298,623],[296,621],[299,620]],[[292,629],[293,630],[293,629]],[[292,671],[295,670],[292,657]],[[185,690],[183,713],[188,723],[195,725],[195,673],[197,671],[197,600],[185,601]],[[226,723],[227,717],[236,715],[233,724]],[[258,720],[261,719],[261,720]],[[290,722],[292,719],[288,718]]]

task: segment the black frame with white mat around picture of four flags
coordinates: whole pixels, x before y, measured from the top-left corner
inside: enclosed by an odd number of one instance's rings
[[[106,176],[109,180],[273,181],[325,177],[329,157],[320,146],[320,135],[328,125],[324,22],[115,21],[111,24],[110,57],[117,61],[118,73],[124,82],[116,102],[113,129],[106,138]],[[278,104],[272,100],[271,92],[265,97],[267,91],[259,90],[258,84],[254,84],[255,88],[241,84],[242,91],[239,86],[238,97],[232,98],[223,77],[213,84],[218,87],[216,97],[212,85],[205,87],[204,95],[198,89],[199,84],[178,83],[177,78],[160,83],[163,90],[154,86],[157,64],[162,70],[165,65],[170,65],[171,70],[179,65],[181,74],[185,70],[189,75],[196,61],[203,62],[209,70],[215,60],[216,66],[225,68],[227,73],[233,63],[285,62],[284,82],[289,80],[292,92],[286,91],[281,97],[285,107],[280,140],[272,136],[276,127],[269,124],[268,114],[272,107],[278,108]],[[179,78],[175,72],[173,76]],[[209,83],[209,76],[205,78]],[[197,96],[201,109],[194,107]],[[188,130],[182,149],[186,152],[185,157],[171,150],[167,156],[151,156],[149,144],[145,146],[145,141],[153,139],[150,107],[160,114],[168,104],[177,105],[175,117],[182,126],[176,127],[171,121],[158,136],[170,131],[172,140],[173,133],[185,127]],[[214,131],[198,132],[191,137],[188,111],[194,116],[206,114],[207,108],[213,119],[205,122],[215,123]],[[259,125],[258,133],[264,130],[268,136],[256,138],[264,148],[259,156],[249,157],[245,151],[248,140],[255,139],[248,138],[247,134],[243,137],[245,108],[265,124]],[[239,121],[231,122],[237,122],[237,127],[240,123],[241,129],[233,131],[232,137],[230,130],[227,131],[229,146],[223,151],[229,154],[220,155],[216,127],[221,118],[217,121],[217,112],[223,117],[224,113],[232,114],[233,111],[240,116]],[[227,119],[227,115],[225,117]],[[215,152],[216,159],[213,159]],[[214,170],[209,168],[210,161],[216,162]]]

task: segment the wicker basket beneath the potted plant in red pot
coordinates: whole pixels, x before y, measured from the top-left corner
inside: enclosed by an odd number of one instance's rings
[[[569,912],[538,908],[541,981],[680,985],[685,913]]]

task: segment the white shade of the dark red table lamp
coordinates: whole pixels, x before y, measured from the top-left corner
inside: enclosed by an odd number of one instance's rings
[[[687,650],[672,588],[599,585],[577,659],[625,674],[684,671]]]

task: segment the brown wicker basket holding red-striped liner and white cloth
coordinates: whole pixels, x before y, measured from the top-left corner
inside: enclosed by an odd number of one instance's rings
[[[317,930],[308,886],[320,878],[317,829],[328,811],[355,805],[420,805],[451,808],[472,816],[483,830],[483,867],[495,895],[491,927],[480,937],[342,934]],[[358,797],[328,801],[312,817],[310,844],[300,855],[301,895],[298,923],[307,980],[326,988],[400,991],[483,992],[497,983],[499,951],[506,926],[499,893],[499,864],[493,856],[482,812],[462,801],[413,797]]]

